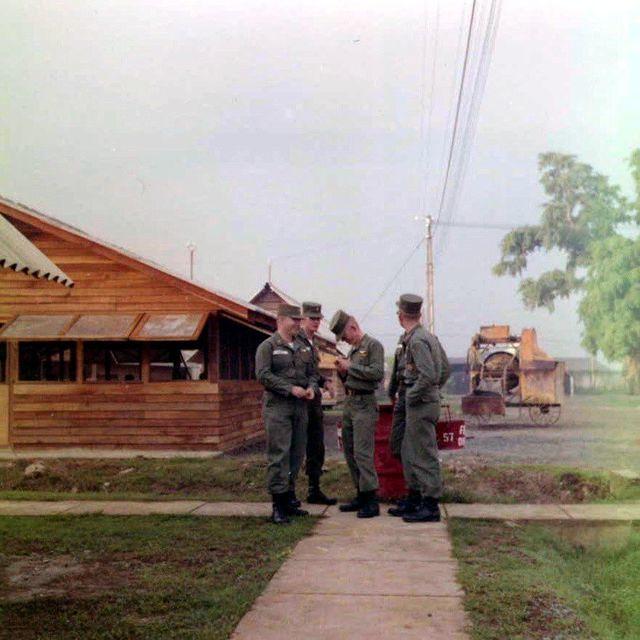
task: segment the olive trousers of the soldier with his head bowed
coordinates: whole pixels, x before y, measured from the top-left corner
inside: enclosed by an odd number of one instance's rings
[[[373,394],[347,396],[342,414],[344,457],[358,491],[376,491],[378,474],[374,464],[378,404]]]

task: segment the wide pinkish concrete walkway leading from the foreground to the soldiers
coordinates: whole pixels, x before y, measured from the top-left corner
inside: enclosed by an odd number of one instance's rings
[[[295,547],[232,640],[466,640],[446,526],[335,507]]]

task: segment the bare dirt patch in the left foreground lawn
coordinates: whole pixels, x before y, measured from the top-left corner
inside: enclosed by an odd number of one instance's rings
[[[0,598],[7,602],[87,598],[134,581],[128,566],[84,562],[71,555],[10,556],[3,565]]]

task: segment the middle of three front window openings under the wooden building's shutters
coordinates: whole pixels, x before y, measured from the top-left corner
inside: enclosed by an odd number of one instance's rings
[[[118,342],[85,342],[83,377],[86,382],[140,382],[140,345]]]

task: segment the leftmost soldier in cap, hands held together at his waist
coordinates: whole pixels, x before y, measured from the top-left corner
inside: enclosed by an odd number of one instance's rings
[[[307,403],[320,394],[313,353],[297,335],[300,308],[278,307],[277,331],[256,352],[256,377],[264,386],[262,416],[267,431],[267,489],[273,499],[272,521],[308,515],[299,508],[295,481],[304,459]]]

